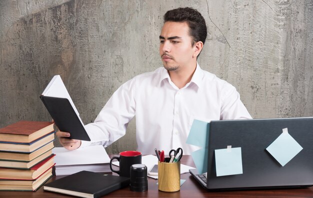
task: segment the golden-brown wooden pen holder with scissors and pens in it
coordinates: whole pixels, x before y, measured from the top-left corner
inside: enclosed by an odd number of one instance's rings
[[[175,192],[180,189],[180,161],[168,163],[158,161],[158,190]]]

